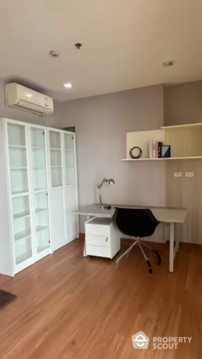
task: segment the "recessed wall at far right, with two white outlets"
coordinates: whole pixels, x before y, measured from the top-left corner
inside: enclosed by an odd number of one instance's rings
[[[188,82],[165,87],[165,124],[182,125],[202,122],[202,81]],[[172,150],[171,150],[172,151]],[[182,242],[202,244],[202,160],[167,161],[167,204],[188,208],[183,226],[178,226],[177,235]],[[173,172],[182,172],[182,177],[173,177]],[[185,172],[194,172],[186,178]]]

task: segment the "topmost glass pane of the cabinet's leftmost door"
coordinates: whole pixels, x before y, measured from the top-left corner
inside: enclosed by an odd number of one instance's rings
[[[9,145],[26,146],[25,126],[8,123]]]

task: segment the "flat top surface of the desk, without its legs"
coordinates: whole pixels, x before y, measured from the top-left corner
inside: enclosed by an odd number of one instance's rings
[[[97,217],[113,217],[115,207],[123,208],[149,208],[153,212],[154,216],[159,222],[164,223],[183,223],[187,215],[187,208],[166,208],[166,207],[149,207],[149,206],[128,206],[113,204],[111,209],[98,208],[97,204],[91,204],[77,211],[75,214],[81,214],[86,216],[97,216]]]

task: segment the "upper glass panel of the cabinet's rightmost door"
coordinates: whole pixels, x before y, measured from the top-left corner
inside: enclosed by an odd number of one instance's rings
[[[64,134],[65,136],[65,170],[66,185],[75,185],[75,140],[74,135]]]

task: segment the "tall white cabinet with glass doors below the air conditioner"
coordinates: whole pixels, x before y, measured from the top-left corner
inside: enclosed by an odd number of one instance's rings
[[[14,276],[78,235],[75,134],[2,118],[0,163],[0,273]]]

